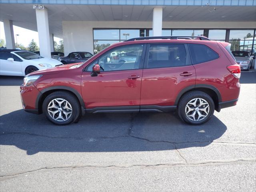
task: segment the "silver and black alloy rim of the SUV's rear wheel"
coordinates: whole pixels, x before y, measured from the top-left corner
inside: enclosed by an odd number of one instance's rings
[[[200,121],[208,116],[210,106],[208,102],[202,98],[194,98],[190,100],[185,107],[185,114],[192,121]]]

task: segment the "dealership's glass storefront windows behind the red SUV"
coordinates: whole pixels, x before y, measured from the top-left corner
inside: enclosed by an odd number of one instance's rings
[[[162,36],[207,36],[211,40],[227,41],[231,51],[248,51],[254,54],[256,34],[254,29],[163,29]],[[93,29],[94,54],[116,42],[130,38],[153,36],[152,29]],[[229,39],[226,39],[229,36]]]

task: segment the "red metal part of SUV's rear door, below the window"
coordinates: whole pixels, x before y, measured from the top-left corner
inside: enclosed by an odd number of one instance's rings
[[[191,76],[180,76],[183,72],[192,73]],[[170,106],[180,93],[188,86],[196,83],[194,67],[170,67],[144,69],[141,87],[141,105]]]

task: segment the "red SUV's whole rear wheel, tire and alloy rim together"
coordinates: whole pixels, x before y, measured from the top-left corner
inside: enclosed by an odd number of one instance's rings
[[[201,91],[191,91],[180,99],[178,115],[186,123],[199,125],[210,120],[214,113],[212,98]]]

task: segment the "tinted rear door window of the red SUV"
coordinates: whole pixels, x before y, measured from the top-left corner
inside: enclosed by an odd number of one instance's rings
[[[184,44],[150,44],[146,68],[185,66],[186,57]]]

